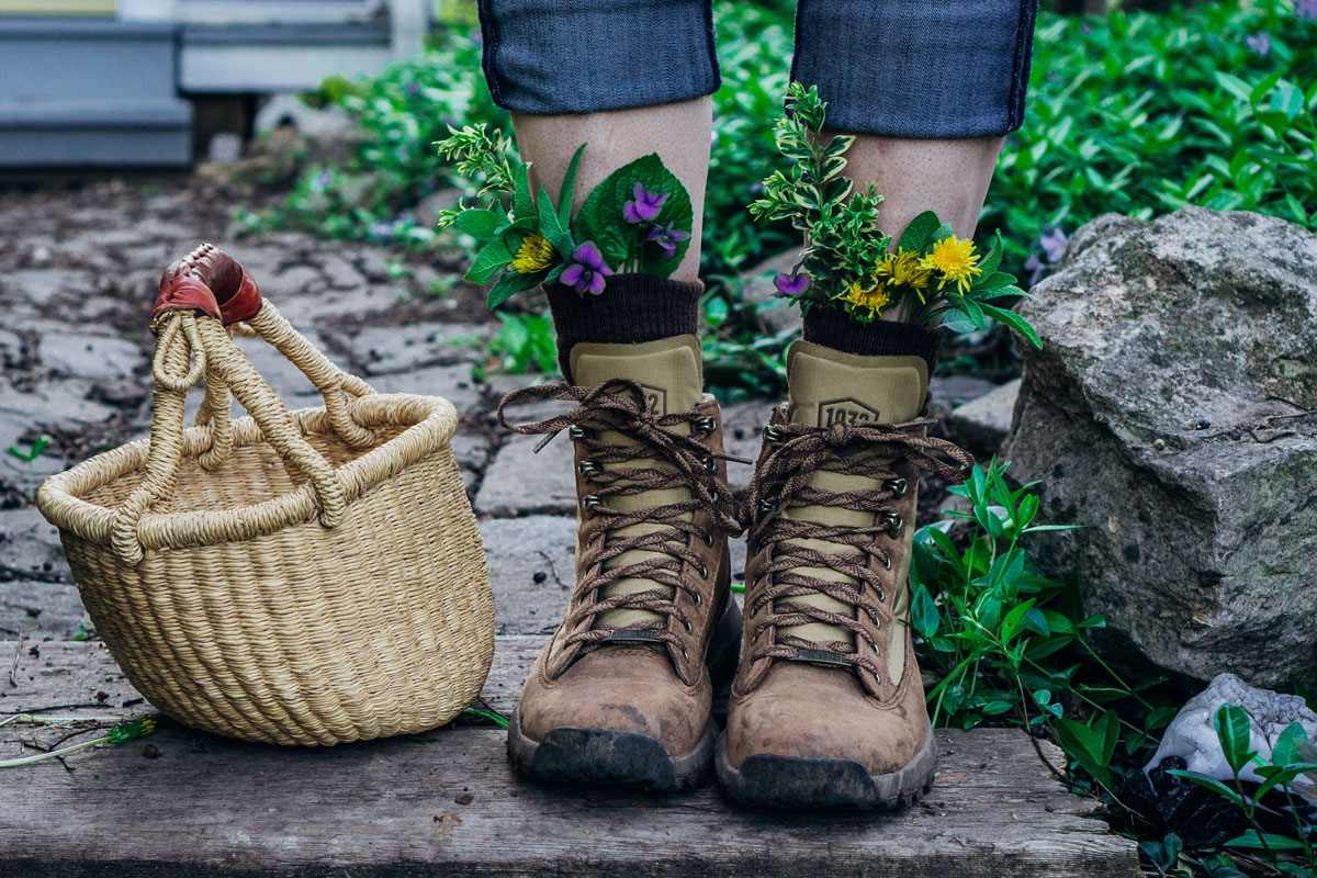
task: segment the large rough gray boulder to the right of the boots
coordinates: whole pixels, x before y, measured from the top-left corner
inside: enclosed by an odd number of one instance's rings
[[[1317,684],[1317,236],[1252,213],[1098,217],[1021,313],[1010,474],[1113,657]],[[1288,400],[1288,401],[1281,401]]]

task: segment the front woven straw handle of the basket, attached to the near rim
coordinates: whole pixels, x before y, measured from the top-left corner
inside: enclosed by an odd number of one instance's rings
[[[277,311],[273,313],[278,317]],[[211,407],[215,434],[220,437],[223,433],[223,441],[213,442],[205,454],[217,455],[215,459],[219,461],[232,448],[228,419],[228,394],[232,392],[261,428],[266,442],[278,452],[290,474],[302,474],[311,482],[319,499],[320,524],[335,528],[346,512],[346,488],[338,473],[302,436],[292,415],[233,344],[221,320],[216,296],[198,278],[162,286],[151,313],[151,332],[157,340],[151,361],[155,411],[150,448],[142,480],[116,511],[111,528],[111,545],[128,565],[136,566],[145,557],[138,536],[142,516],[154,508],[167,511],[174,498],[183,461],[183,404],[187,391],[203,376],[207,392],[203,408]],[[288,332],[292,332],[291,326]],[[221,395],[223,407],[216,404]]]

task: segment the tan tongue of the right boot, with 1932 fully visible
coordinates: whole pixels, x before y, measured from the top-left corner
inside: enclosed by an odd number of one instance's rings
[[[786,376],[790,386],[788,412],[792,423],[809,426],[909,421],[919,416],[928,390],[928,366],[921,357],[861,357],[805,341],[792,345],[786,357]],[[881,487],[878,479],[826,471],[814,473],[809,484],[834,494]],[[874,519],[872,512],[824,505],[797,507],[788,509],[785,515],[797,521],[857,528],[872,525]],[[820,553],[840,553],[860,558],[855,548],[826,540],[792,540],[790,544]],[[798,567],[795,571],[831,582],[855,582],[851,577],[827,567]],[[839,615],[855,615],[849,604],[822,594],[792,598],[790,602]],[[849,631],[823,623],[788,625],[781,628],[780,633],[819,644],[828,641],[852,646],[855,644],[855,634]]]

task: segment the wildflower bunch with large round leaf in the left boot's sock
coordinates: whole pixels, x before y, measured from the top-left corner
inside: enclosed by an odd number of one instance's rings
[[[527,162],[511,157],[502,132],[481,124],[449,129],[439,153],[457,170],[482,179],[482,204],[444,211],[440,228],[456,225],[479,247],[466,280],[489,283],[490,309],[540,283],[560,283],[579,295],[601,295],[615,271],[668,276],[690,246],[694,215],[686,188],[656,154],[619,167],[590,192],[572,216],[577,166],[572,157],[554,207],[541,186],[531,195]]]

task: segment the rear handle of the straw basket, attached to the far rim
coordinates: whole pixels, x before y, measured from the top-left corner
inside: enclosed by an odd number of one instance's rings
[[[250,329],[283,354],[320,392],[329,416],[329,425],[352,448],[370,448],[375,434],[353,416],[352,400],[374,394],[370,384],[344,371],[315,345],[292,328],[269,300],[237,259],[211,244],[203,244],[165,270],[161,297],[195,295],[209,290],[225,325],[242,333]],[[249,333],[242,333],[249,334]],[[203,467],[213,469],[227,457],[232,445],[228,424],[228,394],[220,384],[205,386],[205,399],[196,413],[196,424],[215,421],[215,445],[199,458]]]

